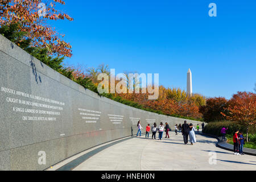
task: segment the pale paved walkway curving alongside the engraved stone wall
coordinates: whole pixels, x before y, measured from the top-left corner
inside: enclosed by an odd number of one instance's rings
[[[197,135],[197,143],[185,145],[183,136],[170,139],[134,137],[106,148],[73,170],[256,170],[256,156],[233,155],[215,146],[215,138]],[[217,164],[209,164],[210,151]],[[210,160],[210,162],[214,162]]]

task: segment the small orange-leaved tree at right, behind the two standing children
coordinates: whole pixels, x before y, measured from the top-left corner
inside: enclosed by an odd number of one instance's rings
[[[227,113],[222,113],[230,121],[236,121],[247,127],[247,142],[249,126],[256,125],[256,94],[251,92],[237,92],[228,101]]]

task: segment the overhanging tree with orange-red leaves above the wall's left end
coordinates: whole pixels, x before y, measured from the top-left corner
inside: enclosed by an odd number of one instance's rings
[[[46,4],[42,0],[0,0],[0,26],[19,23],[19,31],[27,33],[32,47],[47,48],[49,55],[71,57],[72,47],[63,40],[64,35],[46,24],[47,20],[73,20],[55,9],[57,3],[65,5],[61,0],[51,0]]]

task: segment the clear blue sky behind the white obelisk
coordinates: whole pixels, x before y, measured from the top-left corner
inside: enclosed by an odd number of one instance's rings
[[[73,22],[51,23],[72,44],[65,63],[159,73],[160,84],[230,98],[256,82],[256,1],[66,0]],[[209,17],[208,5],[217,5]]]

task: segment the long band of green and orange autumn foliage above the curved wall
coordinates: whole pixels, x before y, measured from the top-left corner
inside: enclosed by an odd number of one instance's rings
[[[108,65],[101,64],[98,68],[89,69],[81,66],[61,65],[64,56],[72,56],[72,47],[63,40],[64,35],[59,34],[53,27],[47,26],[47,22],[57,19],[72,21],[73,19],[56,10],[57,4],[65,5],[64,1],[49,0],[46,3],[44,16],[39,16],[38,13],[40,3],[42,3],[41,0],[0,0],[0,33],[4,32],[7,38],[55,71],[98,93],[97,85],[100,81],[97,76],[100,73],[106,73],[109,76]],[[129,80],[127,80],[127,85],[129,85]],[[157,100],[148,100],[149,95],[148,92],[139,92],[105,94],[104,96],[139,109],[156,111],[159,114],[191,119],[203,118],[204,121],[228,119],[248,127],[255,126],[256,98],[254,93],[238,92],[229,101],[223,97],[206,100],[201,94],[188,96],[184,90],[179,88],[159,86]]]

